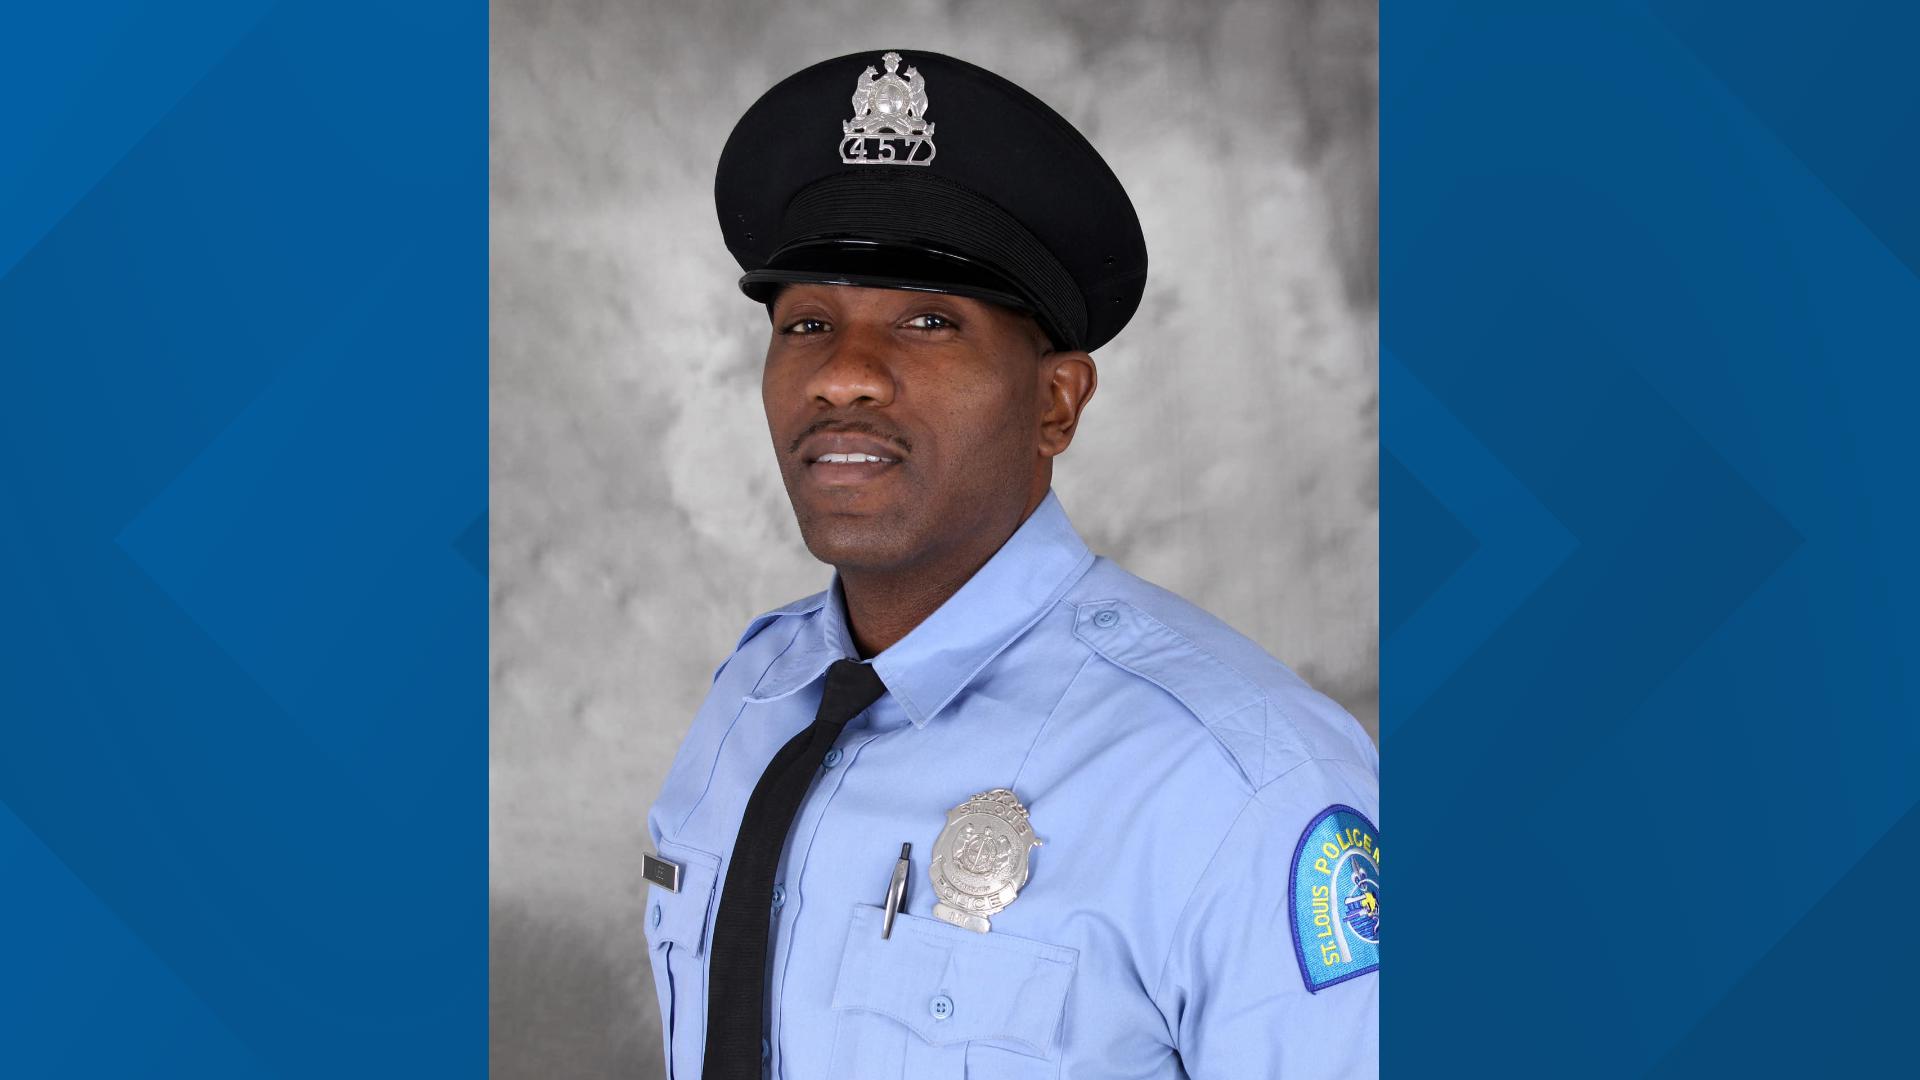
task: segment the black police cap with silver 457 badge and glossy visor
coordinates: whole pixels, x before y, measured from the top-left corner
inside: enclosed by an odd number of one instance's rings
[[[1092,144],[935,52],[858,52],[783,79],[733,125],[714,206],[741,292],[760,302],[793,282],[952,292],[1094,350],[1146,288],[1140,219]]]

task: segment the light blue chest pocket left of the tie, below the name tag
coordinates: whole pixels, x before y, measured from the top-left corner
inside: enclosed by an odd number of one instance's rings
[[[666,1076],[699,1080],[707,1049],[707,938],[718,855],[660,842],[660,859],[680,865],[680,890],[647,886],[647,955],[660,1001]]]

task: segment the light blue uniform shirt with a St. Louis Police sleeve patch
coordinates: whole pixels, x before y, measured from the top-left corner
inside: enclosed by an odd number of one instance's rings
[[[730,1022],[707,1015],[707,951],[747,796],[856,655],[837,586],[755,619],[647,815],[682,867],[645,915],[674,1080]],[[1052,494],[872,663],[887,694],[847,724],[781,855],[770,1076],[1379,1070],[1379,757],[1338,705],[1094,557]],[[927,861],[947,811],[993,788],[1044,844],[975,934],[933,917]],[[902,842],[908,897],[881,940]]]

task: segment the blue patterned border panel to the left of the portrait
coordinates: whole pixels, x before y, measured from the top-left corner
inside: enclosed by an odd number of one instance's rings
[[[486,1070],[486,8],[0,35],[0,1072]]]

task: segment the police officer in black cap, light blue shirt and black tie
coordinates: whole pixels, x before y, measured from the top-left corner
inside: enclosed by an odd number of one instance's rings
[[[1114,173],[900,50],[768,90],[714,198],[835,575],[747,626],[649,813],[668,1074],[1373,1074],[1373,744],[1050,492],[1146,281]]]

